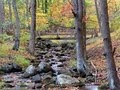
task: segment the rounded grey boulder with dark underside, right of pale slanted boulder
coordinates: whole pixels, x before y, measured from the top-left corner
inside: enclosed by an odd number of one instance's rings
[[[41,62],[39,65],[38,65],[38,72],[40,73],[47,73],[49,71],[52,71],[52,68],[50,66],[50,64],[46,63],[46,62]]]

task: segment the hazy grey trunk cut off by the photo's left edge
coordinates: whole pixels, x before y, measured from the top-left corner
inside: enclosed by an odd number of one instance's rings
[[[4,0],[0,0],[0,34],[3,33],[4,20],[5,20]]]

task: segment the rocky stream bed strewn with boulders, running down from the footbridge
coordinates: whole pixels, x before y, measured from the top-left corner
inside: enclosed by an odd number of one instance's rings
[[[1,75],[4,83],[1,90],[52,90],[49,88],[82,85],[76,68],[68,67],[69,61],[75,58],[74,43],[63,42],[58,45],[38,38],[35,57],[36,60],[26,70],[14,62],[1,66],[4,72]],[[98,87],[86,85],[82,90],[98,90]]]

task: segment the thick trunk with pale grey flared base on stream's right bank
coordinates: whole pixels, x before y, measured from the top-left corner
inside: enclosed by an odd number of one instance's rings
[[[91,74],[84,56],[84,39],[83,39],[83,1],[73,0],[73,14],[75,17],[75,29],[76,29],[76,50],[77,50],[77,70],[82,77],[86,77]]]

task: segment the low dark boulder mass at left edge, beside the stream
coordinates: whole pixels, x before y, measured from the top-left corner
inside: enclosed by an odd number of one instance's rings
[[[16,63],[8,63],[0,67],[0,70],[5,73],[11,73],[11,72],[21,72],[22,67],[17,65]]]

